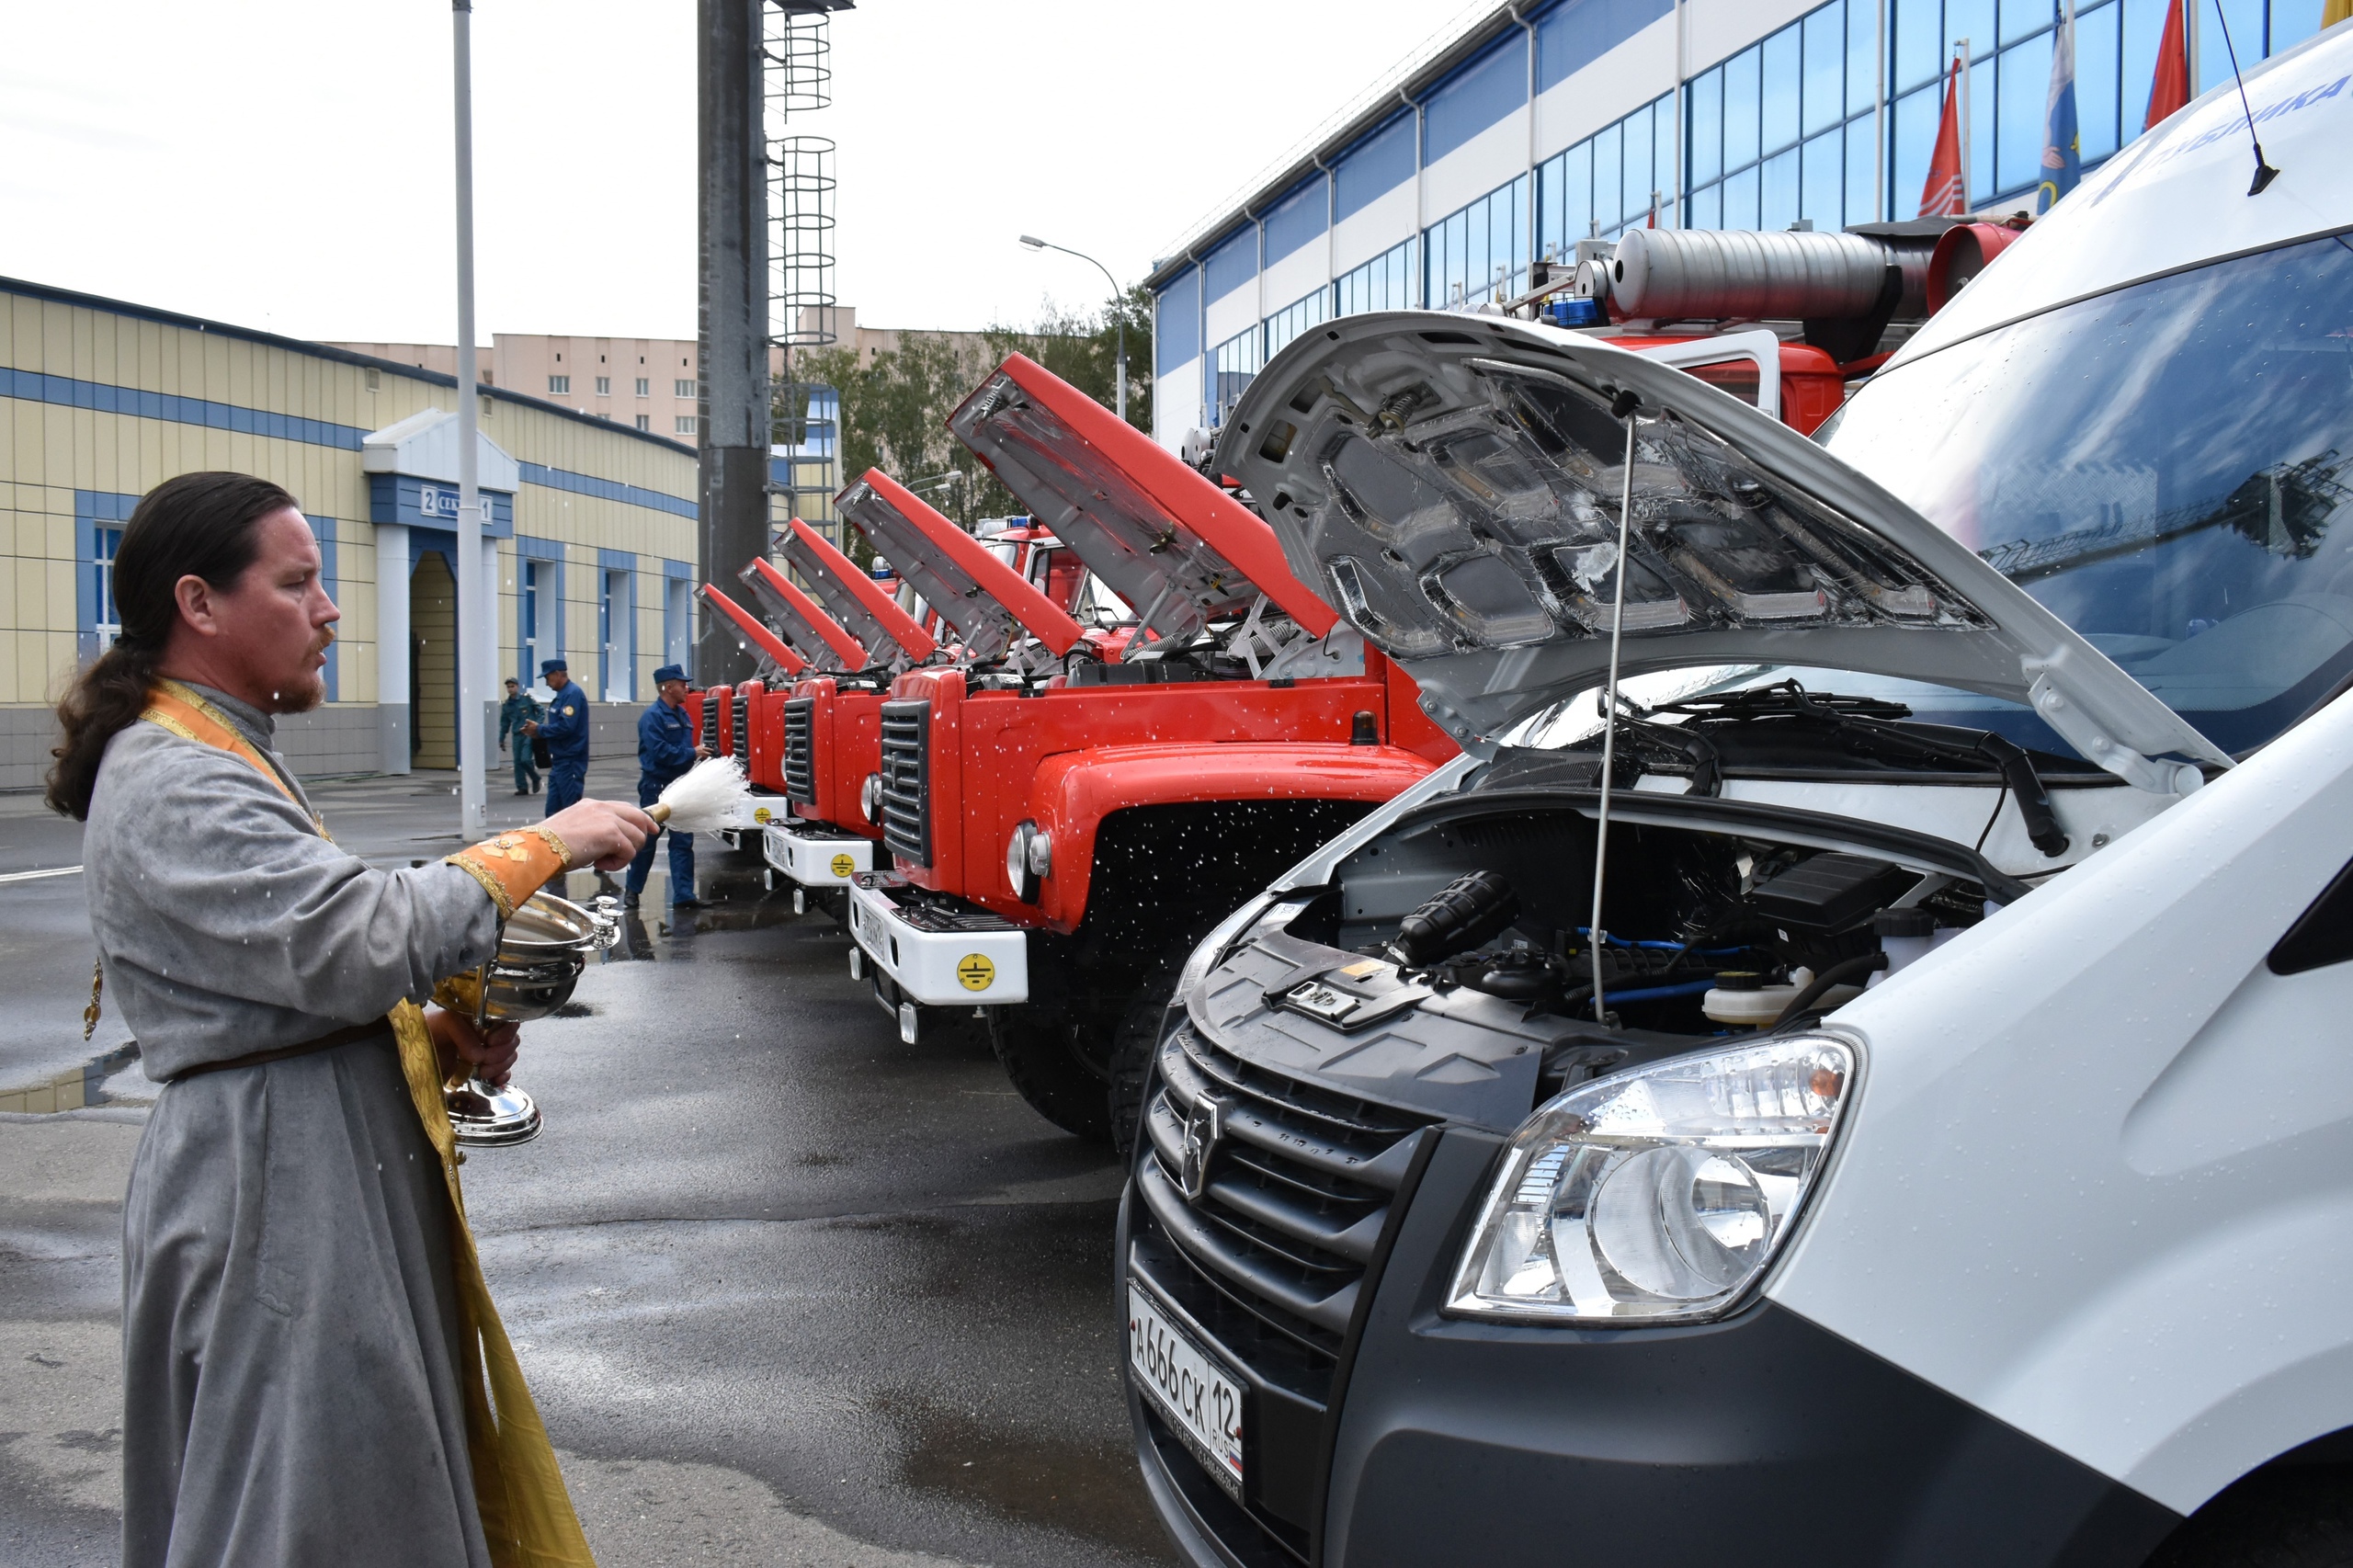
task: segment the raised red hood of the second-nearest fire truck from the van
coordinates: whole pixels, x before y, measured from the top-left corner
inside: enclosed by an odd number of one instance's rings
[[[1002,659],[1024,631],[1056,659],[1078,643],[1078,622],[1054,600],[880,469],[849,480],[833,509],[955,626],[969,657]]]

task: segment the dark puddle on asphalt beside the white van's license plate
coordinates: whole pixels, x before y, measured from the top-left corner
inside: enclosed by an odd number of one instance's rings
[[[991,1429],[960,1410],[904,1394],[887,1396],[882,1413],[908,1441],[899,1457],[906,1486],[1136,1556],[1167,1552],[1136,1455],[1125,1443],[1092,1446]]]

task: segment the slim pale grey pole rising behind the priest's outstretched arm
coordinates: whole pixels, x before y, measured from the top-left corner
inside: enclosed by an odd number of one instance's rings
[[[456,54],[456,791],[459,824],[468,838],[487,833],[482,819],[482,751],[489,742],[482,704],[489,697],[489,572],[482,570],[482,490],[475,417],[480,377],[473,363],[473,0],[452,0]]]

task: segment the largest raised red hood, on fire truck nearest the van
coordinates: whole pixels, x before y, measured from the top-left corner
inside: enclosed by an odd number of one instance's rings
[[[1007,358],[948,417],[1038,523],[1162,638],[1247,614],[1259,593],[1308,633],[1339,619],[1249,509],[1049,370]]]

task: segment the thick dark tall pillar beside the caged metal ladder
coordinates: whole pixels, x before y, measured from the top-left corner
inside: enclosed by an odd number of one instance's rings
[[[732,586],[767,556],[767,155],[760,118],[762,0],[696,0],[701,134],[704,582]],[[753,657],[696,596],[694,678],[746,680]]]

